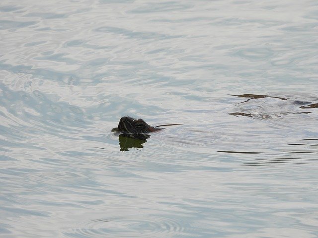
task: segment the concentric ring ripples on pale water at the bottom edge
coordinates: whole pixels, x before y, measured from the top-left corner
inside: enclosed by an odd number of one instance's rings
[[[193,235],[188,221],[158,215],[114,216],[88,221],[67,232],[67,237],[170,237]]]

